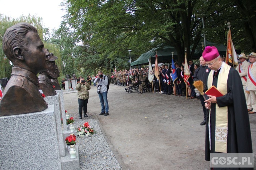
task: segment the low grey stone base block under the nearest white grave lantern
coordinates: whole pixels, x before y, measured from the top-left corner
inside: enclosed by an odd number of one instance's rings
[[[76,148],[76,158],[71,159],[68,151],[66,151],[65,157],[61,157],[62,170],[70,170],[70,169],[79,170],[80,169],[78,145],[75,145],[75,148]]]

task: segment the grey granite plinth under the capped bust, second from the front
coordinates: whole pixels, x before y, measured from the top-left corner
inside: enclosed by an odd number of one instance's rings
[[[44,98],[44,100],[48,104],[53,104],[54,105],[54,113],[55,113],[55,118],[56,118],[56,123],[57,123],[57,134],[58,134],[58,141],[59,141],[59,152],[60,152],[60,157],[65,156],[65,147],[66,147],[66,141],[64,138],[64,130],[62,130],[62,125],[61,121],[62,119],[62,111],[61,111],[61,104],[60,104],[60,95],[57,94],[55,96],[47,96]],[[64,117],[66,119],[66,116]],[[62,123],[63,124],[63,123]]]

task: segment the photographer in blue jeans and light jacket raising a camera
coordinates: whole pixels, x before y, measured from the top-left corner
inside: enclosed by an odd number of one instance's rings
[[[98,82],[97,93],[100,98],[101,104],[101,113],[99,115],[108,116],[109,115],[109,103],[108,103],[108,77],[102,73],[98,72],[98,76],[95,79],[94,83]]]

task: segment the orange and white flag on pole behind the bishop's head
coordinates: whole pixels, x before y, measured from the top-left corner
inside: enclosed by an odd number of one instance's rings
[[[228,31],[226,63],[230,66],[238,65],[237,53],[231,39],[231,31]]]

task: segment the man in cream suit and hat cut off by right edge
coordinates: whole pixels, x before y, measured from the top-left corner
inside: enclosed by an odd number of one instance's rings
[[[248,67],[248,75],[247,75],[247,82],[246,82],[247,89],[250,91],[251,102],[252,102],[252,111],[249,111],[248,113],[254,114],[256,113],[256,63],[255,63],[256,53],[252,52],[247,56],[249,57],[249,60],[252,63]]]

